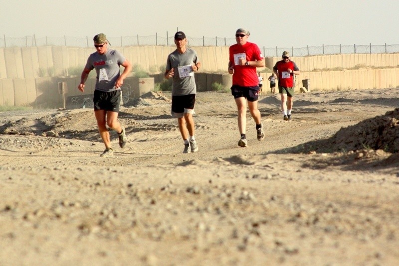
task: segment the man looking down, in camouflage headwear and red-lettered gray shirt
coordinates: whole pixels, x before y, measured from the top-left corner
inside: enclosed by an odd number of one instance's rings
[[[132,70],[132,64],[117,50],[108,49],[108,40],[103,33],[94,36],[93,40],[97,51],[87,59],[80,77],[78,90],[84,92],[87,77],[90,71],[95,69],[97,79],[93,98],[94,114],[98,131],[105,145],[105,150],[100,156],[111,157],[114,156],[114,150],[111,147],[107,125],[109,129],[118,133],[121,148],[127,142],[125,129],[118,122],[118,114],[121,102],[121,86],[123,80]],[[122,74],[120,74],[120,66],[125,68]]]

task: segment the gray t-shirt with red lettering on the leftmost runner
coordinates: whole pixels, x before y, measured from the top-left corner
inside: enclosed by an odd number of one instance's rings
[[[104,54],[92,53],[87,59],[85,68],[96,70],[96,90],[112,92],[120,90],[115,88],[115,82],[120,76],[120,65],[126,58],[117,50],[108,49]]]

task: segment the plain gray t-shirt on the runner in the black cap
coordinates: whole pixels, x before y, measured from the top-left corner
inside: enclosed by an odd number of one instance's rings
[[[197,64],[198,59],[196,51],[187,48],[186,52],[181,54],[175,50],[168,56],[166,70],[172,68],[175,71],[173,76],[172,96],[181,96],[197,93],[196,80],[192,69],[193,64]]]

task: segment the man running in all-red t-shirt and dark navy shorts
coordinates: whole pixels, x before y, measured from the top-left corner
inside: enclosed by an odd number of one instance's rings
[[[238,109],[238,130],[241,138],[238,146],[248,146],[246,140],[246,102],[249,112],[256,124],[256,136],[260,141],[264,138],[263,125],[258,110],[258,76],[257,67],[264,67],[264,57],[255,43],[248,42],[249,31],[239,28],[235,32],[236,44],[229,48],[228,73],[233,75],[231,94],[234,96]]]

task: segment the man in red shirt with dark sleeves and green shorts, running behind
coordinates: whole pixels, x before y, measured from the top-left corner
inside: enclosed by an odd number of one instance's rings
[[[283,120],[291,121],[291,111],[294,102],[294,75],[299,75],[301,72],[294,61],[290,60],[290,54],[287,51],[283,52],[283,60],[278,61],[274,67],[273,72],[278,76],[278,92],[281,96],[281,109],[283,110]]]

